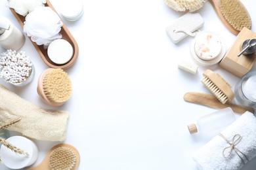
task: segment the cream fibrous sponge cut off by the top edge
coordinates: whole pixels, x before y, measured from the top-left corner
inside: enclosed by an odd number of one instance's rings
[[[205,0],[165,0],[165,3],[177,11],[196,11],[203,7]]]

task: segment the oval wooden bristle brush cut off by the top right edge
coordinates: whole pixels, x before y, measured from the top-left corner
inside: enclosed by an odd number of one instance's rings
[[[243,27],[251,29],[251,17],[239,0],[211,0],[211,4],[223,24],[235,35]]]

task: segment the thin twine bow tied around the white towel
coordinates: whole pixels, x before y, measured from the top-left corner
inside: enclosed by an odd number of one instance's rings
[[[236,144],[240,143],[240,141],[242,140],[242,136],[239,135],[239,134],[236,134],[234,135],[233,139],[232,139],[232,143],[230,143],[228,141],[228,139],[226,139],[226,137],[223,136],[223,134],[219,133],[219,136],[221,136],[225,141],[226,143],[230,144],[230,146],[227,146],[226,148],[223,149],[223,157],[224,158],[228,158],[231,153],[232,153],[232,150],[234,150],[234,152],[236,152],[236,154],[238,155],[238,157],[242,160],[242,162],[245,164],[245,160],[248,161],[248,158],[247,156],[241,152],[238,148],[236,148]],[[227,152],[227,150],[229,150]]]

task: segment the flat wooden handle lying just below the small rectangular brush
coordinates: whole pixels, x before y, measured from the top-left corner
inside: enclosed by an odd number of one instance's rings
[[[229,101],[225,104],[222,104],[215,96],[207,93],[187,92],[184,94],[183,99],[191,103],[205,105],[207,107],[212,107],[216,109],[224,109],[226,107],[230,107],[234,112],[237,112],[239,114],[243,114],[245,111],[249,111],[252,113],[254,112],[254,109],[251,107],[236,105],[234,103],[230,103]]]

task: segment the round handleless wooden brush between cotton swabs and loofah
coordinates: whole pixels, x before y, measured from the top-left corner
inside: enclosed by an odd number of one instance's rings
[[[62,69],[46,69],[39,76],[37,93],[48,105],[60,106],[70,98],[71,80]]]

